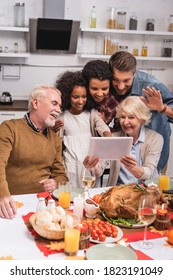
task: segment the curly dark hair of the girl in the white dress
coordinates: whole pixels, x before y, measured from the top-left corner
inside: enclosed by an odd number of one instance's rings
[[[66,71],[60,74],[56,80],[55,87],[60,90],[62,94],[62,111],[69,110],[71,108],[71,93],[75,86],[85,87],[86,81],[82,76],[81,71]],[[90,98],[89,98],[90,99]],[[90,111],[91,106],[89,105],[88,96],[87,102],[84,106],[84,110]]]

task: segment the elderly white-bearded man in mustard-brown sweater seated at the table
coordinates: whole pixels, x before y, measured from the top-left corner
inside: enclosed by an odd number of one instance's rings
[[[28,113],[0,125],[0,217],[11,219],[11,195],[49,191],[68,181],[61,139],[51,129],[61,112],[61,93],[39,85],[29,97]]]

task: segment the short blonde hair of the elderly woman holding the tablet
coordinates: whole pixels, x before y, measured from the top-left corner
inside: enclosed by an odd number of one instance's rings
[[[142,102],[139,96],[129,96],[116,107],[116,118],[119,119],[122,113],[135,115],[139,120],[143,120],[144,125],[150,123],[151,112]]]

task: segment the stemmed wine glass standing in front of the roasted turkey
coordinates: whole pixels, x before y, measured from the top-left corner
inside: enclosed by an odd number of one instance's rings
[[[138,207],[138,217],[141,222],[144,223],[144,239],[140,244],[141,249],[150,249],[153,247],[153,244],[147,240],[147,226],[152,224],[156,219],[157,214],[157,204],[156,198],[151,192],[141,196]]]

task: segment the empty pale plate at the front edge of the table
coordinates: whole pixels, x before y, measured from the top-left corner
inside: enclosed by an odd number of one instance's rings
[[[87,260],[137,260],[136,253],[119,244],[97,244],[86,251]]]

